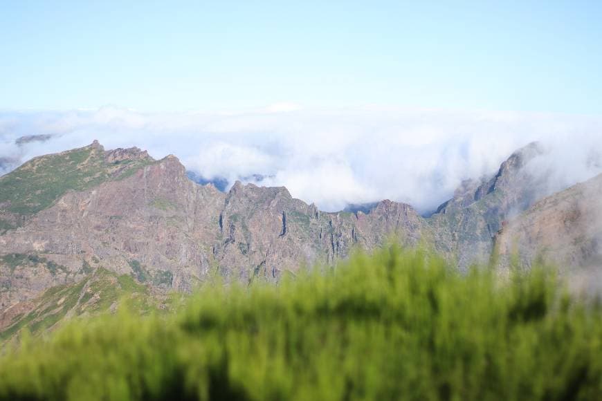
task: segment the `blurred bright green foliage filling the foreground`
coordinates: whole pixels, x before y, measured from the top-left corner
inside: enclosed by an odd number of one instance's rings
[[[131,280],[131,277],[127,279]],[[122,278],[120,278],[122,279]],[[134,285],[134,281],[131,281]],[[176,315],[75,319],[0,356],[3,400],[596,400],[602,307],[542,267],[500,279],[385,248]]]

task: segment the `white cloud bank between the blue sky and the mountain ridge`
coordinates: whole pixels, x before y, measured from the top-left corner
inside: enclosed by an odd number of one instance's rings
[[[530,168],[549,176],[549,192],[602,172],[599,117],[286,104],[237,113],[4,111],[0,174],[93,139],[105,149],[147,149],[155,158],[174,153],[206,180],[284,185],[295,198],[329,211],[388,198],[428,212],[462,180],[495,174],[534,140],[547,153]]]

